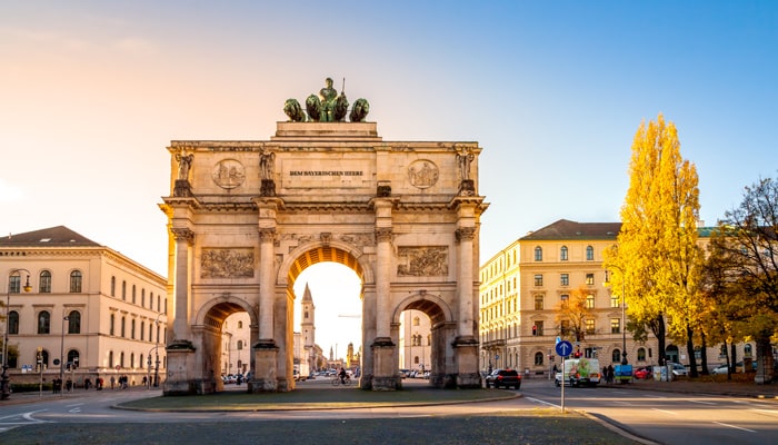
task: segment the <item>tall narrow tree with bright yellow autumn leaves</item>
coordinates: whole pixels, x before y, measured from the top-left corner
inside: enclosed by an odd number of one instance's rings
[[[618,271],[608,284],[620,291],[624,283],[632,323],[646,326],[659,342],[659,364],[665,364],[669,334],[686,343],[695,376],[702,258],[697,247],[698,177],[680,156],[675,125],[661,115],[656,122],[642,122],[635,135],[629,176],[617,246],[605,254],[606,269]]]

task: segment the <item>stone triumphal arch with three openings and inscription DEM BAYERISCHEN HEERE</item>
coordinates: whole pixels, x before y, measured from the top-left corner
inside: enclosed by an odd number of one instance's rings
[[[309,97],[308,112],[287,101],[289,120],[269,140],[168,147],[170,195],[160,205],[170,234],[166,395],[221,389],[221,327],[237,312],[251,320],[248,390],[293,389],[293,284],[320,261],[346,265],[362,281],[361,388],[401,387],[406,309],[431,320],[430,385],[481,386],[481,148],[385,141],[365,119],[366,100],[347,120],[337,103],[328,110],[327,95],[319,99]]]

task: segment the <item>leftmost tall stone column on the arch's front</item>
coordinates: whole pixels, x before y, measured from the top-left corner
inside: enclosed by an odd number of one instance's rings
[[[176,238],[176,281],[173,283],[173,343],[178,340],[191,340],[189,323],[189,249],[194,239],[194,234],[188,228],[172,228]]]

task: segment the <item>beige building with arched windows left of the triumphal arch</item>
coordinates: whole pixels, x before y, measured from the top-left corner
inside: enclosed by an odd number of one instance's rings
[[[24,291],[29,277],[30,291]],[[0,238],[11,384],[167,374],[167,279],[67,227]],[[8,305],[8,307],[6,307]],[[68,370],[70,368],[71,370]]]

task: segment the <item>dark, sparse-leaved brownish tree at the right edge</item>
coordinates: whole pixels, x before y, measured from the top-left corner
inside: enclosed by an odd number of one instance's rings
[[[757,382],[774,379],[771,337],[778,336],[778,180],[746,187],[738,207],[725,214],[710,249],[722,257],[719,309],[738,338],[757,343]]]

